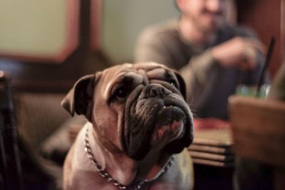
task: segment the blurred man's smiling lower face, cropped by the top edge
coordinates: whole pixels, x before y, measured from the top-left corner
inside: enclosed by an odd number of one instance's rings
[[[185,18],[201,31],[210,32],[225,21],[229,0],[182,0],[178,3]],[[182,2],[181,1],[181,2]]]

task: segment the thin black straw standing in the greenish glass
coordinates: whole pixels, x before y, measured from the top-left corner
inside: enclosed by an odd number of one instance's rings
[[[272,56],[272,53],[273,53],[273,50],[274,50],[275,41],[276,41],[276,39],[274,38],[274,36],[272,36],[272,37],[271,37],[270,44],[269,44],[268,51],[267,51],[267,53],[266,53],[265,63],[264,63],[264,65],[263,65],[263,68],[262,68],[262,70],[261,70],[261,75],[260,75],[260,77],[259,77],[259,83],[258,83],[258,85],[257,85],[257,94],[256,94],[256,97],[259,97],[261,85],[264,83],[264,74],[265,74],[266,69],[269,67],[269,63],[270,63],[270,60],[271,60],[271,56]]]

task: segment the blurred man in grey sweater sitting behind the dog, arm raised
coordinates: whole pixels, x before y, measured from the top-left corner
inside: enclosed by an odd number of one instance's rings
[[[239,84],[256,84],[264,46],[254,33],[229,26],[232,0],[176,0],[179,20],[146,28],[135,62],[155,61],[180,71],[198,117],[227,119],[227,99]]]

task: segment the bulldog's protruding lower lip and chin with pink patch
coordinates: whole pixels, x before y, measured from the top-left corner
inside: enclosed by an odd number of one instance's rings
[[[157,113],[155,129],[150,139],[154,149],[162,149],[175,139],[179,139],[185,132],[185,113],[176,106],[164,106]]]

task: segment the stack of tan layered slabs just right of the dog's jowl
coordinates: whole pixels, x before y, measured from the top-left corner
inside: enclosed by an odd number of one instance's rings
[[[195,130],[194,141],[188,147],[195,164],[232,167],[232,137],[229,128]]]

